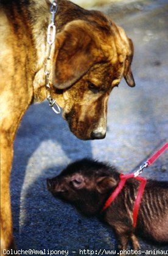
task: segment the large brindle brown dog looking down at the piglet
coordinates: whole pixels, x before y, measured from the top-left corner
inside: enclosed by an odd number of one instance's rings
[[[44,62],[51,18],[47,0],[1,0],[1,249],[14,247],[10,170],[18,125],[33,101],[46,98]],[[58,1],[57,34],[51,53],[52,97],[80,139],[102,139],[107,101],[124,76],[135,86],[133,43],[107,16]]]

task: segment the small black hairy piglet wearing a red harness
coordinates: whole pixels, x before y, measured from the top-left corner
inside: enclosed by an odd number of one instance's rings
[[[131,178],[101,213],[106,200],[119,184],[119,172],[106,163],[82,159],[69,164],[63,172],[47,180],[47,188],[55,197],[72,203],[83,214],[98,216],[113,227],[119,249],[126,250],[128,240],[139,248],[136,233],[159,243],[168,243],[168,182],[147,180],[133,228],[133,207],[139,181]],[[121,254],[120,254],[121,255]]]

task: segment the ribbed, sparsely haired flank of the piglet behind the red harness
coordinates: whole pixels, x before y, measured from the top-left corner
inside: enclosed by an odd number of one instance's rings
[[[147,238],[168,242],[168,182],[147,180],[137,229]]]

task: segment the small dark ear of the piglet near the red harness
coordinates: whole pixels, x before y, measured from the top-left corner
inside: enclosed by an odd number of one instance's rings
[[[113,177],[101,177],[97,180],[97,191],[100,194],[104,194],[115,186],[117,186],[117,181]]]

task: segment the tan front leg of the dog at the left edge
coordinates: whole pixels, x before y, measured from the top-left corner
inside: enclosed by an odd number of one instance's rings
[[[15,249],[10,206],[10,171],[13,158],[13,139],[1,133],[1,255]],[[9,254],[10,255],[10,254]]]

